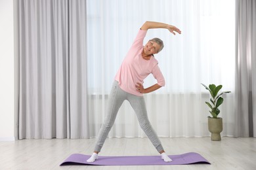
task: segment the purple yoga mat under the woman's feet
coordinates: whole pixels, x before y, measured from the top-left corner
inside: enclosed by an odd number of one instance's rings
[[[192,163],[209,163],[203,156],[195,152],[181,155],[169,155],[173,161],[165,162],[161,156],[98,156],[95,162],[87,162],[91,156],[72,154],[60,165],[186,165]]]

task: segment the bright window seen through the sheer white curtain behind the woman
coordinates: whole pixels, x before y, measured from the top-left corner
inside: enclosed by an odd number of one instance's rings
[[[140,26],[173,24],[182,35],[151,29],[165,48],[156,55],[166,87],[156,93],[198,92],[200,82],[234,89],[234,1],[87,1],[89,92],[110,92],[112,80]],[[154,82],[150,76],[146,85]],[[104,86],[103,86],[104,85]]]

